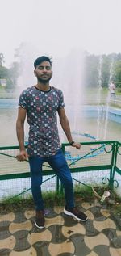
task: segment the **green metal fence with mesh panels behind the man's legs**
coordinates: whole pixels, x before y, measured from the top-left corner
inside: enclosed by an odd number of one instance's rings
[[[119,141],[82,142],[81,150],[68,143],[62,150],[72,173],[73,183],[94,186],[109,185],[121,195],[121,143]],[[31,179],[27,161],[18,162],[19,146],[0,147],[0,199],[31,193]],[[43,165],[45,191],[61,191],[60,180],[48,165]]]

